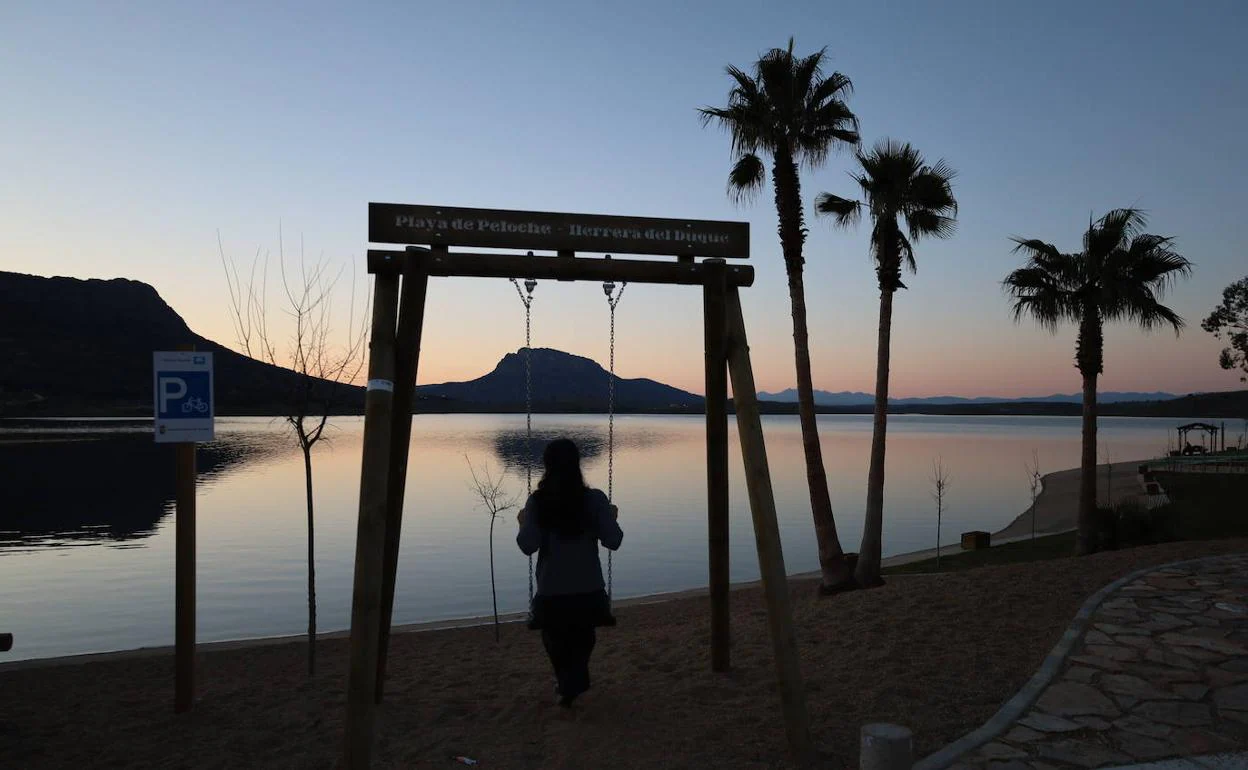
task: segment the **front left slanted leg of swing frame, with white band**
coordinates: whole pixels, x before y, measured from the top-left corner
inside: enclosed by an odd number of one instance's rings
[[[382,560],[386,552],[386,497],[389,478],[394,398],[394,316],[398,273],[377,275],[368,343],[364,448],[359,472],[359,524],[351,602],[351,664],[347,671],[346,768],[368,768],[373,748],[373,690],[381,631]]]

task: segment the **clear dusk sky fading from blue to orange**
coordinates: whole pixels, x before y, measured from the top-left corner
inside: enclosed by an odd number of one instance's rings
[[[1248,5],[1022,2],[0,4],[0,270],[151,283],[233,344],[227,260],[329,260],[346,324],[363,292],[367,203],[740,220],[755,379],[794,384],[770,188],[725,195],[729,140],[696,107],[724,66],[796,37],[854,82],[866,144],[890,136],[957,171],[957,235],[920,242],[899,293],[891,393],[1080,391],[1075,329],[1015,324],[1011,236],[1073,251],[1090,216],[1136,206],[1196,263],[1173,333],[1107,331],[1106,391],[1239,387],[1199,328],[1248,273]],[[802,172],[854,192],[852,157]],[[879,290],[867,226],[809,222],[817,388],[871,392]],[[275,267],[276,270],[276,267]],[[534,344],[607,359],[602,290],[539,285]],[[275,328],[281,328],[272,298]],[[701,392],[701,298],[631,286],[617,367]],[[433,280],[421,382],[488,372],[524,343],[503,280]],[[343,329],[344,332],[344,329]]]

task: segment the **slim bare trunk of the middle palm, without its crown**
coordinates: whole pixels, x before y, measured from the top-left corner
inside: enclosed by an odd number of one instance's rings
[[[889,348],[892,336],[892,296],[880,290],[880,341],[875,358],[875,419],[871,429],[871,468],[866,477],[866,520],[854,578],[862,588],[881,585],[880,557],[884,547],[884,453],[889,429]]]

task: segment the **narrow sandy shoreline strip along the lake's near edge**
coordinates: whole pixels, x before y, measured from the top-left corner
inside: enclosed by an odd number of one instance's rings
[[[1113,489],[1112,493],[1114,499],[1122,499],[1128,494],[1138,494],[1139,485],[1136,479],[1134,468],[1142,462],[1127,462],[1127,463],[1113,463]],[[1078,468],[1070,468],[1067,470],[1057,470],[1048,473],[1041,478],[1042,489],[1040,495],[1036,498],[1036,517],[1037,517],[1037,535],[1050,535],[1060,534],[1063,532],[1070,532],[1075,528],[1075,517],[1077,515],[1078,508]],[[1098,482],[1103,479],[1101,474],[1098,475]],[[1102,492],[1098,483],[1098,494]],[[992,533],[992,544],[1003,545],[1006,543],[1013,543],[1017,540],[1025,540],[1031,537],[1031,507],[1023,510],[1013,520]],[[946,550],[951,553],[960,553],[961,548],[957,544],[941,545],[941,552]],[[925,548],[921,550],[912,550],[901,554],[894,554],[881,560],[881,567],[900,567],[902,564],[910,564],[912,562],[922,562],[925,559],[931,559],[936,557],[935,548]],[[892,575],[892,578],[906,578],[911,575]],[[802,583],[809,580],[815,580],[819,578],[819,572],[801,572],[789,575],[789,580],[795,583]],[[758,588],[760,582],[744,580],[740,583],[733,583],[730,589],[734,592],[750,590]],[[705,597],[710,593],[709,585],[700,585],[696,588],[678,589],[671,592],[658,592],[653,594],[644,594],[640,597],[631,597],[628,599],[619,599],[614,604],[615,607],[638,607],[646,604],[664,604],[668,602],[676,602],[680,599],[690,599],[698,597]],[[500,624],[519,623],[524,619],[523,612],[515,613],[503,613],[499,614]],[[492,625],[494,621],[493,615],[468,615],[463,618],[449,618],[442,620],[422,620],[414,623],[397,624],[392,629],[393,635],[399,634],[419,634],[427,631],[441,631],[463,628],[477,628],[482,625]],[[351,634],[351,629],[337,629],[332,631],[324,631],[317,634],[317,640],[328,639],[341,639],[347,638]],[[15,639],[16,644],[21,643],[20,636]],[[246,648],[262,648],[262,646],[277,646],[283,644],[298,644],[306,643],[307,636],[305,634],[283,634],[278,636],[253,636],[253,638],[241,638],[241,639],[226,639],[221,641],[203,641],[196,644],[197,653],[207,651],[220,651],[220,650],[237,650]],[[130,660],[135,658],[161,658],[173,654],[172,645],[158,645],[158,646],[140,646],[130,648],[124,650],[106,650],[100,653],[79,653],[74,655],[55,655],[50,658],[25,658],[21,660],[0,661],[0,673],[17,669],[32,669],[44,666],[62,666],[62,665],[80,665],[104,660]]]

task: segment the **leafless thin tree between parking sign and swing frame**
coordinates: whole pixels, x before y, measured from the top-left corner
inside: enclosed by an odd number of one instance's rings
[[[312,448],[326,438],[329,416],[338,409],[344,384],[363,369],[369,296],[363,312],[356,308],[356,275],[352,262],[347,324],[334,328],[334,290],[346,266],[334,270],[323,256],[308,262],[300,238],[298,271],[287,272],[285,241],[278,230],[277,265],[281,275],[281,312],[291,326],[286,344],[272,328],[268,307],[270,253],[256,251],[246,276],[226,256],[217,233],[217,251],[230,287],[230,309],[238,347],[251,358],[290,369],[291,387],[282,399],[282,418],[303,453],[303,482],[308,522],[308,676],[316,674],[316,523],[312,497]],[[292,275],[293,273],[293,275]]]

